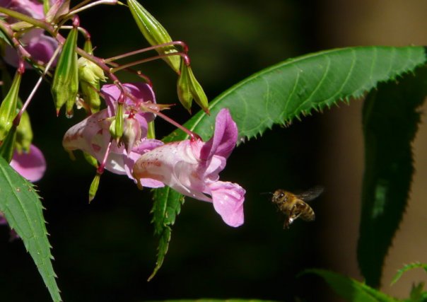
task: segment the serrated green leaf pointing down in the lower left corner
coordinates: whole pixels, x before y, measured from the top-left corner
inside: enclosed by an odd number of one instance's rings
[[[52,268],[42,203],[35,187],[0,158],[0,211],[22,238],[54,302],[62,301]]]

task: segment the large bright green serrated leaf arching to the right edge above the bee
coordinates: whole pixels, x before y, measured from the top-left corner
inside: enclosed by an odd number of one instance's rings
[[[238,125],[239,137],[251,139],[273,124],[290,124],[312,110],[360,98],[378,83],[396,80],[425,63],[423,47],[350,47],[288,59],[231,87],[211,101],[210,116],[198,112],[184,126],[209,139],[214,132],[216,114],[221,108],[228,108]],[[163,140],[182,139],[187,139],[187,135],[176,130]],[[177,194],[175,198],[182,197]],[[155,207],[158,202],[155,197]],[[162,217],[155,216],[153,221],[157,219]],[[156,269],[165,253],[159,247]]]

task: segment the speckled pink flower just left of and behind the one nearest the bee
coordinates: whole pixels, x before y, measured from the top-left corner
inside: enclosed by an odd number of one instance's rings
[[[120,91],[115,85],[105,85],[101,89],[108,108],[100,110],[85,120],[75,124],[68,129],[62,140],[64,149],[69,151],[81,150],[95,157],[99,162],[103,161],[107,146],[111,143],[105,168],[112,173],[127,175],[132,180],[131,169],[136,159],[148,151],[163,145],[156,139],[147,139],[148,122],[154,119],[154,115],[146,112],[139,112],[139,103],[156,99],[153,90],[145,83],[126,83],[123,85],[129,93],[134,95],[136,102],[127,98],[124,105],[125,124],[127,119],[133,119],[129,132],[137,132],[129,145],[117,145],[110,135],[110,118],[115,117],[117,99]],[[133,115],[133,117],[131,117]],[[136,127],[135,127],[136,125]],[[142,180],[147,187],[163,187],[163,183],[150,178]]]

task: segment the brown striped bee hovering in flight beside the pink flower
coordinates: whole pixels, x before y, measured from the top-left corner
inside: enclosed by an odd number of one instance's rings
[[[271,202],[277,205],[280,211],[286,215],[283,228],[289,228],[291,223],[298,217],[304,221],[315,220],[315,211],[306,203],[312,201],[320,194],[324,188],[322,186],[312,187],[310,190],[300,194],[293,194],[285,190],[276,190],[273,193]]]

